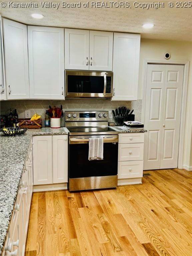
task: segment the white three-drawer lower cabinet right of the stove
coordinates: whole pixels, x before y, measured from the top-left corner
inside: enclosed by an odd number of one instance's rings
[[[141,183],[144,133],[119,134],[118,147],[118,185]]]

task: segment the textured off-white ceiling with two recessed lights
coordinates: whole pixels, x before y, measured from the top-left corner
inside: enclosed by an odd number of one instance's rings
[[[60,3],[57,10],[56,8],[41,7],[41,3],[48,1],[0,0],[0,2],[7,4],[0,10],[2,17],[29,25],[130,32],[140,33],[142,38],[192,41],[192,8],[176,8],[175,6],[170,8],[167,0],[164,1],[164,8],[149,8],[148,10],[133,7],[133,3],[136,1],[129,1],[131,8],[115,8],[114,6],[112,8],[91,8],[90,4],[94,1],[88,1],[89,8],[83,8],[83,3],[87,3],[87,1],[66,1],[67,3],[81,2],[81,7],[62,8],[62,1],[52,1],[52,3]],[[37,3],[38,8],[13,8],[8,7],[8,2]],[[104,3],[106,2],[109,6],[109,2],[113,1],[104,1]],[[34,19],[31,17],[32,13],[41,13],[45,17],[40,20]],[[154,23],[155,26],[152,29],[144,29],[141,27],[143,23]]]

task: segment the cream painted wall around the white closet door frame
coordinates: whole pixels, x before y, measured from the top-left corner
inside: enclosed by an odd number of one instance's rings
[[[190,167],[192,164],[192,43],[181,41],[151,40],[141,39],[140,65],[139,65],[139,86],[138,99],[142,99],[143,94],[143,64],[144,59],[165,60],[165,52],[171,54],[169,60],[172,61],[190,61],[188,92],[187,92],[187,110],[184,138],[183,165]]]

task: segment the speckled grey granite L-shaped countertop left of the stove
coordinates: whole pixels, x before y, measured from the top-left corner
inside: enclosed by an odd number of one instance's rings
[[[16,201],[24,163],[32,136],[66,135],[66,127],[27,130],[21,136],[0,135],[0,255]]]

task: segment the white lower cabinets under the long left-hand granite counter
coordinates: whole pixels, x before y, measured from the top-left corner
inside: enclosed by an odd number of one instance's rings
[[[31,178],[29,178],[31,177],[32,171],[32,168],[29,166],[29,162],[32,162],[32,151],[30,151],[31,149],[32,142],[29,147],[27,159],[21,177],[21,182],[19,185],[19,190],[14,205],[2,256],[25,255],[25,242],[27,238],[31,195],[33,190],[33,183]]]

